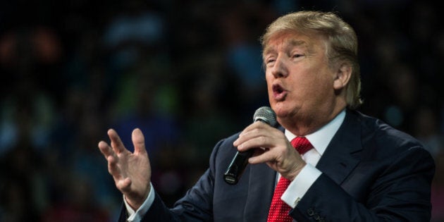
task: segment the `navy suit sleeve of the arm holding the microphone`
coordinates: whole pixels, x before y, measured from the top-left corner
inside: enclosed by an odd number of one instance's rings
[[[366,197],[359,200],[322,174],[291,216],[297,221],[430,221],[431,155],[412,147],[386,162],[389,164],[365,185],[356,182],[368,187],[363,188]]]

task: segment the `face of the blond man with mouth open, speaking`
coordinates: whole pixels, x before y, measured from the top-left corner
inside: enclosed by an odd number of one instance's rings
[[[285,128],[313,131],[336,114],[336,72],[326,47],[322,37],[296,32],[277,33],[266,42],[263,58],[269,101]]]

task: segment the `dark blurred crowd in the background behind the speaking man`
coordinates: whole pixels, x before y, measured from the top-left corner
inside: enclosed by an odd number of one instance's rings
[[[444,25],[435,1],[0,2],[0,221],[115,221],[122,195],[97,143],[144,132],[168,206],[214,144],[268,104],[259,36],[291,11],[357,31],[359,108],[424,142],[444,221]]]

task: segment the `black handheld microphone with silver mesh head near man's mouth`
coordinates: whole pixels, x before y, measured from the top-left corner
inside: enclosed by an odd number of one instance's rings
[[[271,126],[276,125],[276,113],[269,106],[262,106],[254,112],[253,122],[261,121]],[[247,167],[248,159],[253,155],[254,149],[248,149],[245,152],[237,152],[223,174],[223,180],[230,185],[238,183],[240,176]]]

